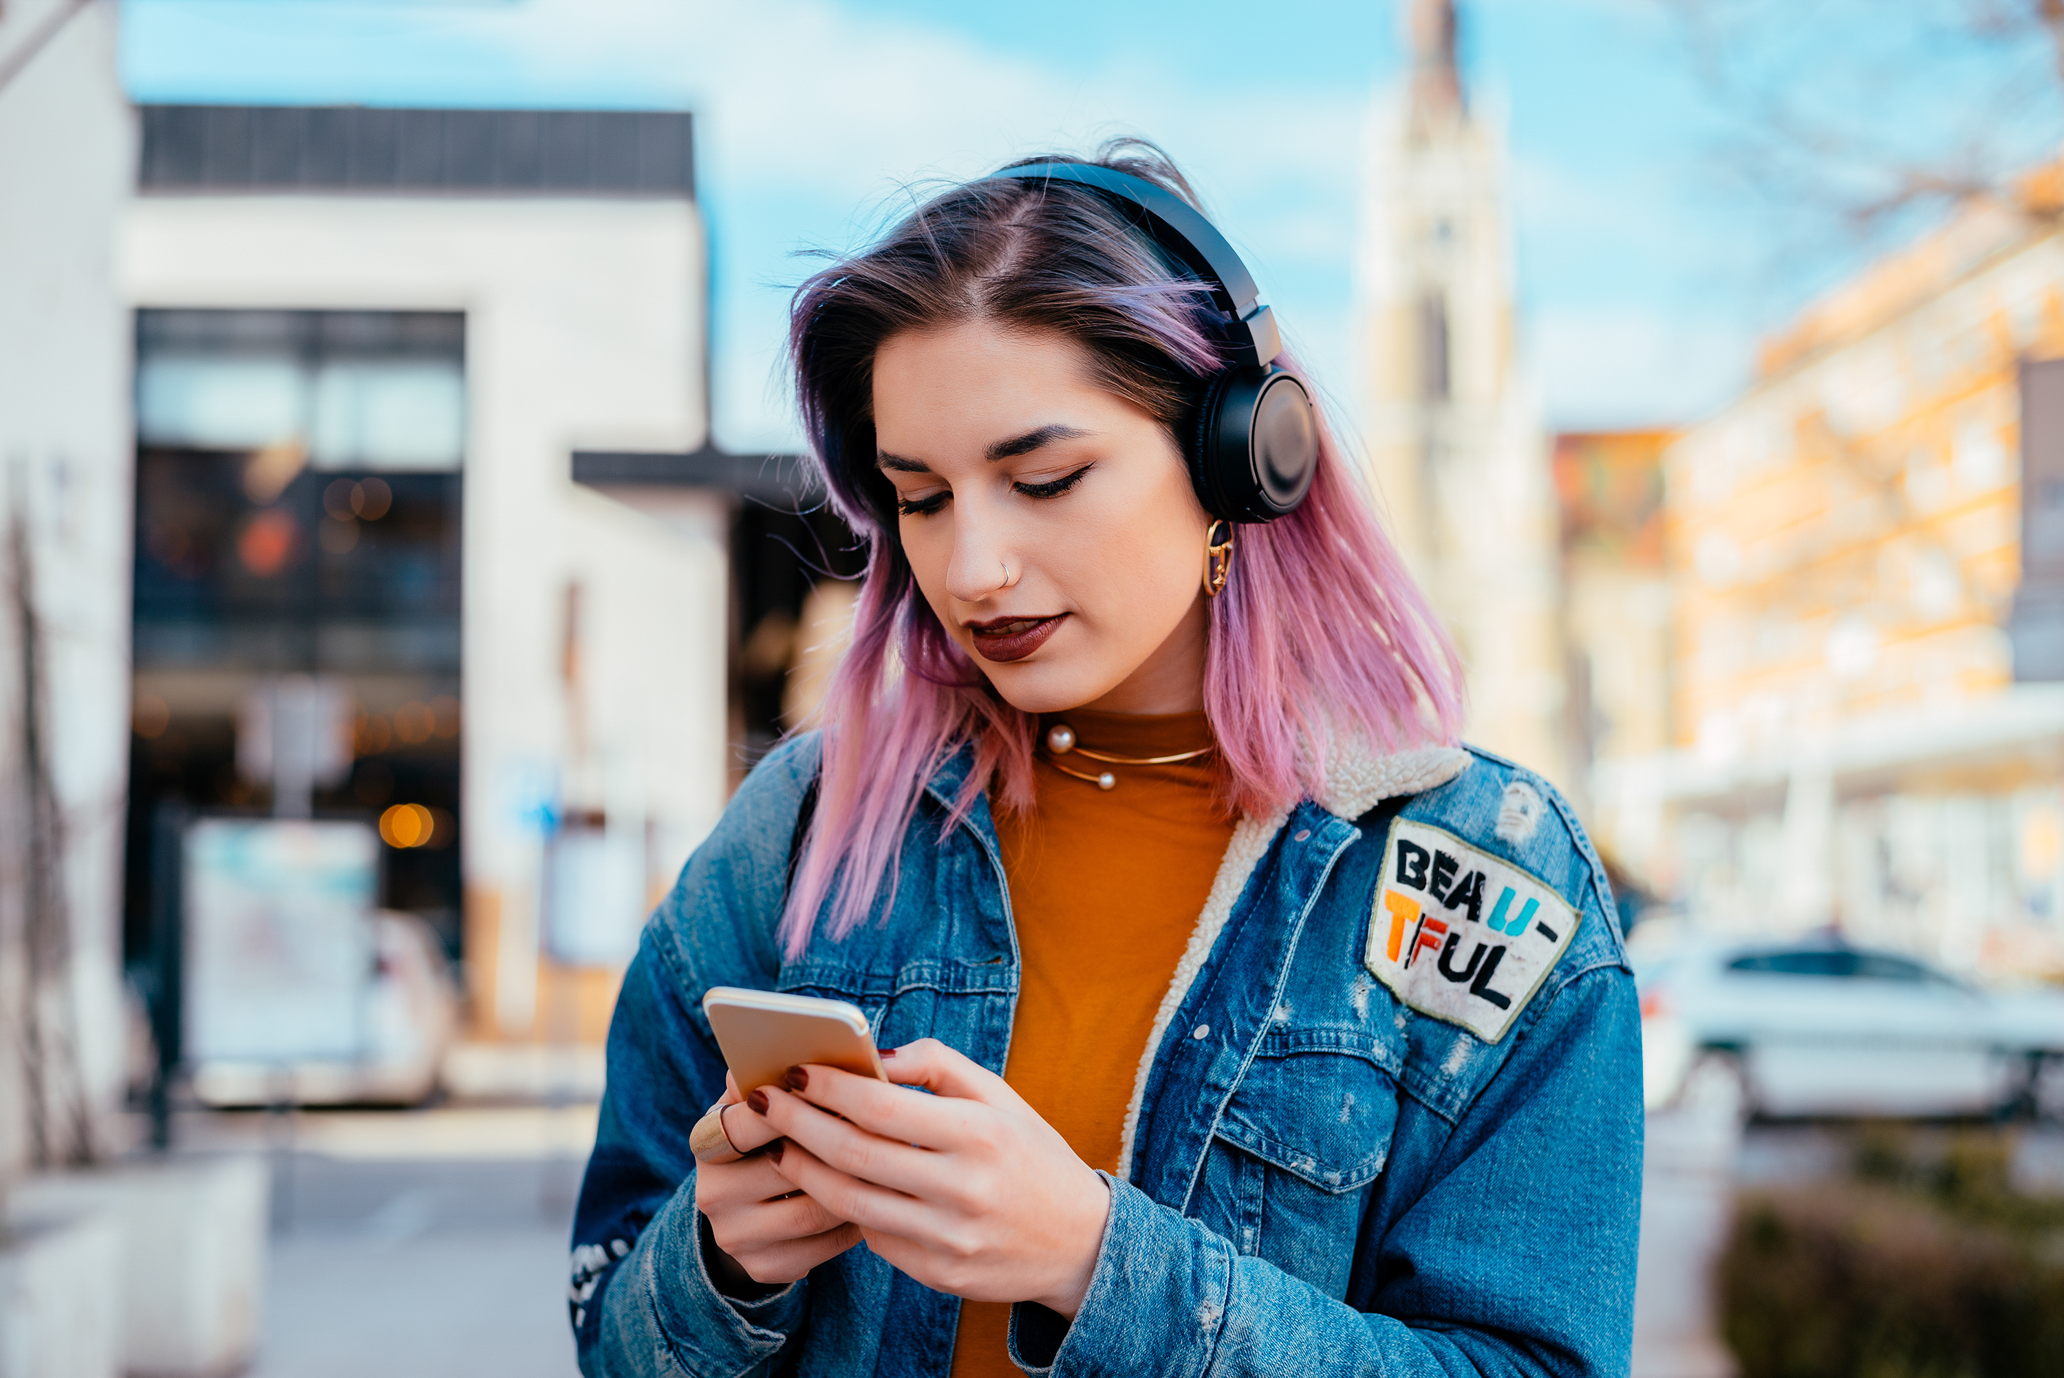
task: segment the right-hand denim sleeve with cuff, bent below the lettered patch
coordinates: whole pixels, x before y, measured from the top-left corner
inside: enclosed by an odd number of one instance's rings
[[[1364,1223],[1356,1304],[1112,1182],[1075,1322],[1042,1345],[1020,1316],[1011,1357],[1067,1378],[1624,1376],[1641,1135],[1633,978],[1598,967],[1554,992],[1453,1133],[1393,1145],[1408,1199]]]

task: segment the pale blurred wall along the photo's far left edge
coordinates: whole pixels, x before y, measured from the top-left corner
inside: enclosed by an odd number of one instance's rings
[[[0,1182],[122,1091],[134,118],[114,6],[0,8]]]

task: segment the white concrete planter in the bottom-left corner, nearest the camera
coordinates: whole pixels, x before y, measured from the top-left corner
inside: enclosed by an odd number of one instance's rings
[[[107,1215],[17,1205],[0,1236],[0,1378],[116,1378],[120,1273]]]

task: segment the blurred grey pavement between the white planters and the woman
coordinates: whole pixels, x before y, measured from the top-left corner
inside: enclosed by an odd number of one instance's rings
[[[246,1378],[574,1378],[566,1260],[594,1110],[182,1116],[182,1151],[272,1163]]]

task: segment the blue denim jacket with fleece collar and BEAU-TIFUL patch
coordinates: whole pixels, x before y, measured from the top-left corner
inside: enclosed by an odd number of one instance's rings
[[[1641,1034],[1604,868],[1538,776],[1348,747],[1323,802],[1234,829],[1082,1308],[1013,1310],[1026,1372],[1626,1374]],[[947,1372],[960,1300],[865,1244],[720,1295],[687,1135],[724,1089],[710,986],[852,1000],[881,1046],[1003,1071],[1018,941],[987,805],[941,835],[968,755],[929,782],[894,904],[842,941],[774,939],[813,736],[762,761],[654,912],[574,1217],[588,1378]]]

